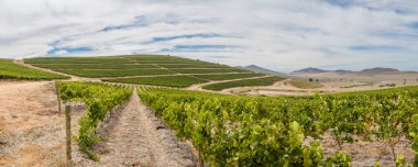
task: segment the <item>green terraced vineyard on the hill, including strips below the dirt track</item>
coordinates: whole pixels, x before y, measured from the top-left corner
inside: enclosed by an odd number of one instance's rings
[[[245,69],[164,55],[106,57],[43,57],[25,59],[32,66],[103,81],[185,88],[210,80],[262,77]],[[271,85],[268,79],[232,82],[234,86]],[[263,82],[263,84],[261,84]],[[215,87],[217,87],[216,85]],[[220,89],[211,89],[220,90]]]

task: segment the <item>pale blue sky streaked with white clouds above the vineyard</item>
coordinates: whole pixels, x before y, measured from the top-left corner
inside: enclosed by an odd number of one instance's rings
[[[0,0],[0,57],[418,70],[417,0]]]

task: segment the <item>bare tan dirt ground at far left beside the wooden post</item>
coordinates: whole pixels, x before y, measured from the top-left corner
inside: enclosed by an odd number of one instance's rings
[[[53,81],[1,84],[0,166],[58,166],[64,132]]]

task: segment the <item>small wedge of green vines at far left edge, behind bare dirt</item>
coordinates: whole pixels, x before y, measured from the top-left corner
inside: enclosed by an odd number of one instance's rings
[[[51,80],[67,78],[69,77],[16,65],[11,59],[0,59],[0,79]]]

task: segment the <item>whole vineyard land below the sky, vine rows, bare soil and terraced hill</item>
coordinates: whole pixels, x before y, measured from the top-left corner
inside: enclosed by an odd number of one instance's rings
[[[418,153],[418,86],[162,55],[0,63],[23,71],[0,78],[0,166],[64,166],[64,105],[74,166],[411,166]]]

